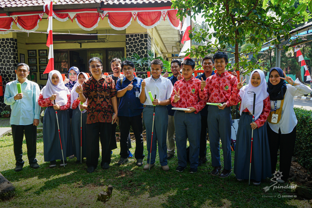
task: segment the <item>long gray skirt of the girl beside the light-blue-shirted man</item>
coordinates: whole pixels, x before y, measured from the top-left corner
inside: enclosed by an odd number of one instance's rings
[[[70,121],[67,110],[57,110],[57,117],[60,127],[60,135],[64,160],[74,154],[72,139],[70,137]],[[60,136],[57,128],[56,113],[53,107],[49,106],[44,111],[43,117],[43,151],[44,161],[62,160]]]

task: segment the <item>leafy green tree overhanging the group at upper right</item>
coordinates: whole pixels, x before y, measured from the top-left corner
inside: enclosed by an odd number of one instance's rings
[[[247,54],[261,50],[264,42],[271,40],[273,45],[280,43],[281,37],[288,39],[289,31],[295,24],[308,20],[305,11],[307,3],[293,7],[294,0],[173,0],[173,7],[177,7],[180,20],[187,12],[201,14],[209,27],[215,32],[200,29],[192,31],[192,40],[206,41],[207,45],[192,47],[190,53],[198,58],[216,51],[234,50],[235,66],[252,69],[256,66],[248,62]],[[304,6],[302,6],[304,5]],[[297,13],[300,12],[300,13]],[[211,41],[212,37],[215,41]],[[244,50],[239,46],[248,44]],[[287,49],[288,46],[283,46]],[[187,54],[187,55],[188,55]]]

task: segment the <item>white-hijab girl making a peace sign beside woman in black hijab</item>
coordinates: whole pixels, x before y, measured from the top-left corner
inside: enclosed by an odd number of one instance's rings
[[[264,125],[271,106],[263,71],[256,69],[251,72],[250,77],[248,85],[243,86],[244,82],[237,85],[237,89],[240,89],[238,98],[241,99],[241,118],[236,136],[234,173],[238,181],[249,179],[251,131],[253,130],[250,179],[253,180],[254,185],[259,185],[261,179],[271,177],[270,148],[266,125]],[[256,93],[255,112],[252,112],[254,99],[252,92]],[[252,113],[255,116],[253,123]]]

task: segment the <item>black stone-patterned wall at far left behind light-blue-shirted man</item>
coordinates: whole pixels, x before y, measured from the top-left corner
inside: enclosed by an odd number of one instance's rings
[[[17,56],[17,39],[1,38],[0,39],[0,75],[2,76],[2,87],[15,80],[15,68],[18,62]],[[4,94],[4,90],[3,90]],[[5,110],[6,104],[3,103],[3,96],[0,97],[0,111]]]

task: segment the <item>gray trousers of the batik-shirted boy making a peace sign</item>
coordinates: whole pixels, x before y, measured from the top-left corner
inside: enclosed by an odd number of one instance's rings
[[[197,168],[201,125],[200,113],[185,113],[181,110],[174,112],[179,166],[186,167],[186,142],[188,138],[190,144],[190,168]]]

